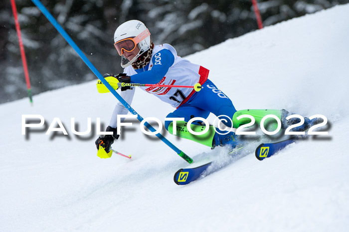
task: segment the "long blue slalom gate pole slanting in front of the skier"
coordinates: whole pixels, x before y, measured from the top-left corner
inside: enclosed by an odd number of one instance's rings
[[[92,65],[92,63],[87,59],[85,54],[80,50],[80,48],[74,43],[74,41],[70,38],[70,36],[65,32],[65,30],[59,25],[59,23],[54,19],[54,17],[48,12],[46,7],[39,0],[31,0],[37,8],[41,10],[41,12],[45,15],[45,17],[52,23],[52,25],[57,29],[57,31],[63,36],[63,38],[68,42],[68,44],[75,50],[75,52],[80,56],[80,58],[85,62],[85,64],[90,68],[90,70],[102,81],[102,83],[109,89],[111,93],[134,115],[137,116],[139,121],[143,121],[141,115],[139,115],[120,95],[115,91],[115,89],[106,81],[106,79],[98,72],[98,70]],[[155,132],[156,130],[146,122],[144,124],[151,132]],[[170,148],[174,150],[180,157],[182,157],[188,163],[192,163],[192,158],[188,155],[185,155],[182,151],[180,151],[177,147],[175,147],[170,141],[168,141],[162,134],[158,133],[156,136],[161,139],[165,144],[167,144]]]

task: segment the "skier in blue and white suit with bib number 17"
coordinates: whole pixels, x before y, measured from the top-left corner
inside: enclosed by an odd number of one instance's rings
[[[242,142],[234,132],[224,135],[218,128],[209,126],[205,134],[193,135],[186,130],[187,122],[193,117],[207,118],[210,113],[213,113],[216,116],[228,116],[232,119],[233,125],[230,120],[223,121],[223,123],[228,127],[234,126],[237,128],[240,124],[246,123],[240,122],[242,120],[237,122],[236,117],[238,115],[250,114],[256,119],[257,123],[260,123],[265,115],[274,114],[283,122],[283,128],[288,126],[285,117],[290,113],[286,110],[236,111],[229,97],[208,79],[209,70],[177,56],[175,49],[170,44],[154,45],[149,30],[139,20],[130,20],[121,24],[114,33],[114,42],[114,46],[121,56],[121,67],[124,68],[124,73],[115,76],[105,74],[104,77],[112,76],[125,83],[169,85],[175,83],[176,85],[190,86],[200,83],[203,86],[197,92],[191,88],[140,87],[176,108],[167,118],[184,119],[176,122],[176,128],[174,128],[172,121],[165,122],[165,127],[171,134],[174,134],[174,129],[176,129],[176,136],[198,142],[212,149],[216,146],[228,146],[233,149]],[[130,105],[134,93],[135,88],[130,86],[121,87],[121,96]],[[95,142],[97,150],[101,145],[107,154],[111,153],[110,146],[114,143],[114,139],[119,138],[116,129],[118,126],[117,115],[127,113],[128,110],[119,102],[106,129],[107,132],[113,132],[113,135],[99,137]],[[311,124],[312,122],[305,118],[305,123],[298,129],[304,130],[305,127],[309,127]],[[195,132],[200,132],[203,128],[200,122],[191,124],[191,129]]]

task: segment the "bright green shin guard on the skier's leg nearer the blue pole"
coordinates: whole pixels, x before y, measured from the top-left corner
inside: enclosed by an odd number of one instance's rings
[[[170,123],[169,125],[169,132],[173,135],[174,134],[174,127],[173,127],[173,122]],[[207,147],[212,147],[212,141],[213,141],[213,137],[215,134],[215,130],[213,126],[209,126],[208,131],[203,134],[203,135],[193,135],[191,134],[188,129],[187,129],[187,122],[185,121],[177,121],[176,122],[176,128],[175,128],[175,136],[178,136],[180,138],[183,139],[188,139],[188,140],[192,140],[195,141],[197,143],[206,145]],[[205,129],[205,126],[200,126],[200,125],[190,125],[190,128],[192,131],[194,132],[201,132]]]

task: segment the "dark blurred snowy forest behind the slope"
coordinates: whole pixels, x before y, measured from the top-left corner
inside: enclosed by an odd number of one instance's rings
[[[264,26],[349,2],[257,1]],[[258,29],[251,0],[42,0],[42,3],[102,74],[122,72],[113,35],[118,25],[127,20],[143,21],[155,44],[172,44],[179,56]],[[16,0],[16,6],[33,98],[39,92],[97,79],[31,0]],[[0,103],[3,103],[27,95],[10,0],[1,1],[0,35]]]

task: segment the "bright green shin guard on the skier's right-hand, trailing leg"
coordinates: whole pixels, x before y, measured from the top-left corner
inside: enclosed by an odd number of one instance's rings
[[[237,117],[239,117],[240,115],[243,115],[243,114],[248,114],[248,115],[253,116],[258,125],[261,124],[262,118],[268,114],[273,114],[281,120],[281,111],[280,110],[250,110],[250,109],[239,110],[239,111],[236,111],[233,115],[233,127],[234,128],[238,128],[241,125],[244,125],[244,124],[251,122],[251,119],[249,119],[249,118],[241,118],[240,120],[236,119]],[[268,118],[265,121],[265,125],[268,125],[269,123],[272,123],[273,127],[275,125],[275,128],[276,128],[277,124],[275,122],[275,119]]]

